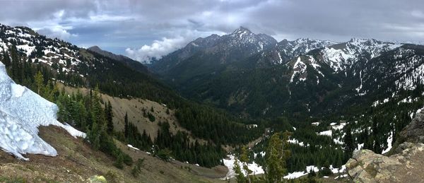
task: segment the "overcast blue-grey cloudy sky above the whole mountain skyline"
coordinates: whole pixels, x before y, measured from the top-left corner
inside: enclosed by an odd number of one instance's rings
[[[424,41],[422,0],[0,0],[0,7],[2,24],[140,61],[240,25],[278,41]]]

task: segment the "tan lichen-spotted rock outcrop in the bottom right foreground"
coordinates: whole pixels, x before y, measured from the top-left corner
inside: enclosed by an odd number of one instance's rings
[[[418,114],[400,133],[401,143],[391,156],[358,150],[346,163],[353,182],[423,182],[424,114]]]

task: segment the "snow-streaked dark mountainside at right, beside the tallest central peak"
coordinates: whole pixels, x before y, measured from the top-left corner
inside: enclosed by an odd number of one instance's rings
[[[332,82],[339,86],[340,89],[334,88],[340,92],[336,100],[331,102],[327,99],[334,105],[326,106],[327,111],[346,105],[344,102],[352,105],[354,100],[356,105],[361,102],[369,105],[370,101],[376,100],[387,102],[389,98],[400,97],[408,90],[415,90],[422,85],[422,46],[355,39],[344,45],[348,47],[326,47],[291,62],[294,64],[291,67],[293,73],[290,82],[294,83],[294,87],[319,87],[322,82]],[[330,72],[325,73],[324,69]],[[339,79],[335,81],[333,76]],[[336,103],[338,106],[335,106]]]

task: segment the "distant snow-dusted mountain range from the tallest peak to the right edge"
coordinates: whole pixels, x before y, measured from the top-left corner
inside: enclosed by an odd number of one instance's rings
[[[301,38],[276,42],[240,27],[229,35],[196,39],[149,67],[184,96],[242,116],[276,117],[281,112],[334,112],[341,110],[337,106],[340,101],[358,97],[383,100],[387,96],[371,95],[378,93],[375,90],[382,85],[394,85],[389,90],[414,88],[412,81],[420,77],[422,64],[419,52],[418,45],[374,39],[331,42]],[[406,61],[411,54],[418,59],[414,66],[405,68],[395,61]],[[378,70],[400,70],[372,71],[382,59],[385,61],[378,64]],[[386,76],[377,79],[370,74]],[[380,85],[377,88],[373,87],[376,83]]]

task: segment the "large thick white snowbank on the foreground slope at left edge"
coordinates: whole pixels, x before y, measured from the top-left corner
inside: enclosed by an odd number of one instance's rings
[[[0,62],[0,148],[22,160],[27,153],[56,156],[57,151],[42,140],[38,126],[59,126],[74,137],[81,131],[57,121],[57,105],[28,88],[18,85],[7,75]]]

